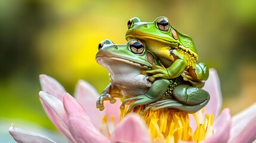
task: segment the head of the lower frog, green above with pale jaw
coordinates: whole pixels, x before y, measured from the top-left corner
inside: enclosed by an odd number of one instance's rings
[[[114,44],[110,40],[100,42],[96,54],[96,61],[111,73],[128,72],[132,70],[149,70],[157,58],[148,52],[143,42],[131,39],[125,45]]]

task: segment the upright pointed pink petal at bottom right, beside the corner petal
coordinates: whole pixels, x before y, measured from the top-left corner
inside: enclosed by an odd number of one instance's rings
[[[231,116],[229,108],[225,108],[214,122],[214,134],[204,142],[227,142],[231,128]]]

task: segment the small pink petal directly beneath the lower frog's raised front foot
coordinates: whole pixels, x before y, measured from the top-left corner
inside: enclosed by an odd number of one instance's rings
[[[110,118],[114,117],[114,122],[116,124],[119,123],[121,104],[122,101],[119,98],[116,98],[116,102],[114,104],[111,104],[109,101],[104,104],[108,120],[111,120]]]

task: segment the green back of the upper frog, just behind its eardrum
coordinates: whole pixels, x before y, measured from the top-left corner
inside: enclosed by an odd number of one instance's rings
[[[181,32],[178,32],[178,37],[180,39],[180,42],[183,44],[183,46],[186,46],[187,48],[191,49],[193,52],[197,53],[195,44],[192,38],[190,38],[190,36],[185,35]]]

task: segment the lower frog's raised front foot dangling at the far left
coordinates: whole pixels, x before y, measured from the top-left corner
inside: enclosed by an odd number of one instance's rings
[[[103,111],[104,110],[104,101],[109,100],[110,103],[114,104],[116,102],[116,100],[114,99],[115,97],[119,97],[121,98],[122,95],[119,93],[111,93],[112,85],[111,83],[104,89],[104,91],[101,93],[100,97],[98,98],[97,102],[96,102],[96,107],[100,110]]]

